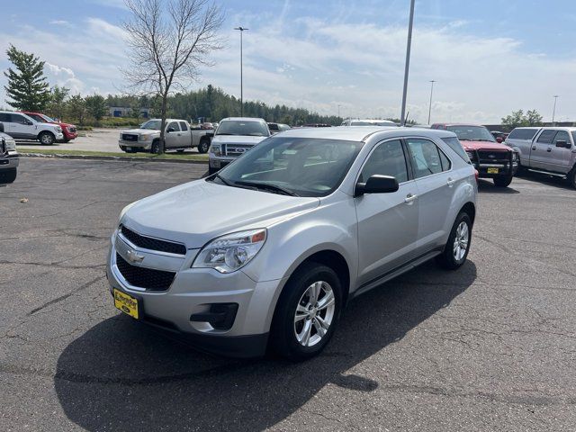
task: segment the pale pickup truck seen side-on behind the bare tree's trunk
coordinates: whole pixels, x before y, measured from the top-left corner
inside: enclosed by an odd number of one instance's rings
[[[157,153],[160,146],[160,125],[160,119],[151,119],[142,123],[139,129],[122,130],[118,145],[126,153]],[[178,152],[185,148],[198,148],[199,153],[206,153],[210,148],[211,132],[213,130],[192,128],[185,120],[166,119],[164,148]]]

